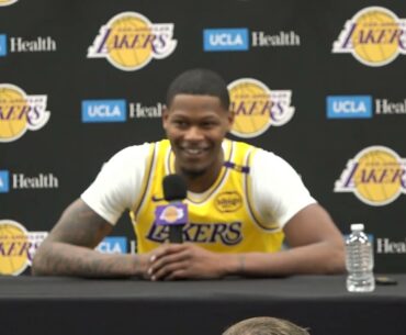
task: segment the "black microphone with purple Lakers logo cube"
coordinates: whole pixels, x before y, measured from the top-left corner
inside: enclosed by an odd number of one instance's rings
[[[163,199],[169,202],[156,209],[157,224],[169,226],[169,242],[182,243],[183,226],[188,223],[188,205],[182,202],[187,198],[188,187],[179,175],[168,175],[162,180]]]

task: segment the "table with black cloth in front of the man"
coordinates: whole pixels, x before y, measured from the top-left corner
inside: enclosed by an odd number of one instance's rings
[[[406,332],[406,275],[349,293],[343,276],[149,282],[0,277],[1,335],[215,335],[250,316],[284,317],[312,335]]]

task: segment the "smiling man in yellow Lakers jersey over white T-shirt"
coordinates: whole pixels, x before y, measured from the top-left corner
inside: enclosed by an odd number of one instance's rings
[[[225,138],[234,115],[217,74],[181,74],[167,107],[167,139],[124,148],[104,165],[38,248],[34,275],[172,280],[343,270],[341,234],[294,169],[272,153]],[[170,174],[188,187],[183,244],[168,243],[168,226],[154,216]],[[138,253],[93,250],[124,211]],[[283,239],[289,248],[282,249]]]

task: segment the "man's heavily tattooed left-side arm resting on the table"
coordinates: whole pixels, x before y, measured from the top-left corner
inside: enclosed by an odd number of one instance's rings
[[[33,275],[145,277],[147,255],[105,255],[93,249],[111,231],[109,222],[76,200],[36,252]]]

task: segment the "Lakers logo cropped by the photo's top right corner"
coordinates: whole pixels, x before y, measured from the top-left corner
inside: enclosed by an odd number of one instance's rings
[[[369,7],[347,21],[332,53],[351,53],[368,66],[383,66],[406,54],[406,20],[382,7]]]

